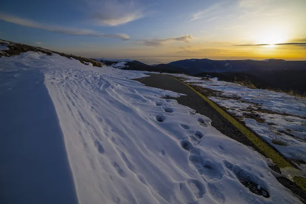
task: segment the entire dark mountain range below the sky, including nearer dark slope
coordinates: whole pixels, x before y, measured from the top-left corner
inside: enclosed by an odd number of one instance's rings
[[[136,60],[98,59],[109,66],[121,63],[122,69],[184,73],[199,77],[218,77],[234,82],[249,80],[258,88],[273,88],[285,91],[306,92],[306,61],[267,60],[210,60],[186,59],[168,64],[148,65]]]

